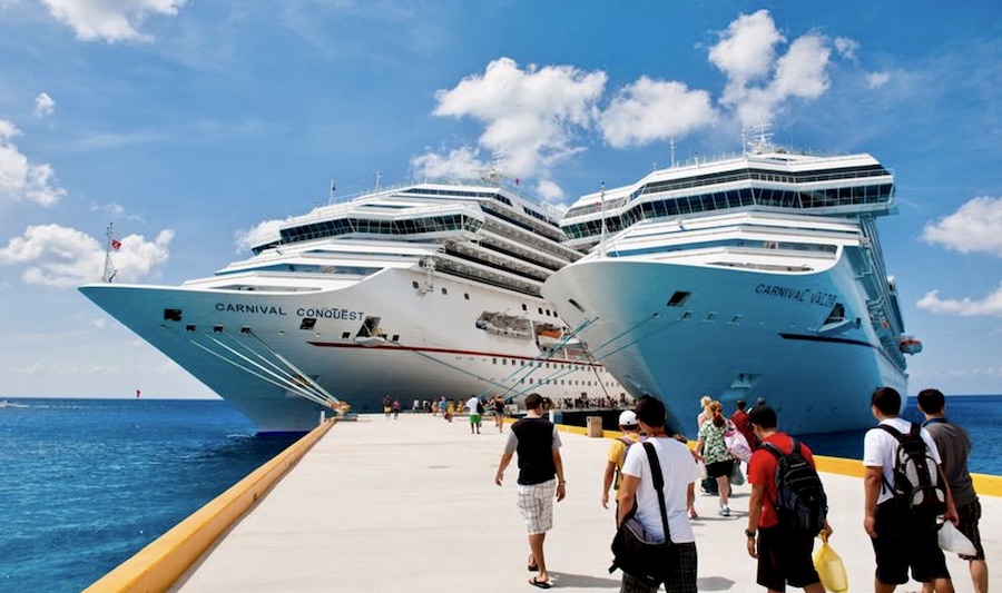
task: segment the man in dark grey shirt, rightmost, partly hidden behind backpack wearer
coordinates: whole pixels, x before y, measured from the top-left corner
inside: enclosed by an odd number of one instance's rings
[[[950,494],[953,495],[953,504],[956,506],[960,530],[971,543],[974,544],[973,556],[961,555],[967,561],[971,571],[971,581],[974,593],[988,592],[988,563],[984,560],[984,547],[981,545],[981,530],[978,522],[981,518],[981,502],[974,492],[974,482],[967,472],[967,457],[971,455],[971,436],[961,426],[946,419],[946,398],[939,389],[922,389],[918,392],[918,411],[925,416],[922,426],[929,431],[943,461],[943,474],[946,484],[950,485]],[[931,593],[932,587],[924,589]]]

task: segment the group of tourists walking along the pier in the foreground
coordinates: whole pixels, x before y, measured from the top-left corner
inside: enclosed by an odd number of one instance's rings
[[[610,443],[605,458],[601,504],[608,508],[611,496],[617,525],[635,520],[649,538],[671,544],[659,552],[657,566],[646,571],[627,571],[617,559],[623,569],[620,591],[654,593],[664,584],[669,593],[695,593],[697,542],[690,524],[697,516],[695,484],[704,480],[701,490],[719,497],[718,513],[727,517],[731,482],[744,481],[746,472],[752,493],[745,536],[748,555],[757,563],[756,583],[769,592],[788,585],[823,593],[812,552],[815,536],[826,541],[833,528],[811,448],[779,429],[776,411],[764,401],[750,411],[737,401],[729,417],[720,402],[709,397],[700,406],[694,448],[684,436],[666,432],[667,409],[660,399],[640,397],[633,409],[619,416],[622,436]],[[973,590],[986,592],[981,506],[966,468],[971,439],[946,419],[945,398],[939,391],[921,392],[918,407],[925,416],[921,425],[898,417],[902,397],[893,388],[881,387],[871,396],[877,426],[864,438],[862,516],[876,563],[874,591],[893,592],[908,582],[911,571],[911,577],[923,584],[923,593],[953,592],[937,543],[940,523],[949,522],[973,544],[974,553],[961,557],[969,562]],[[553,503],[567,496],[567,482],[560,436],[543,417],[547,402],[531,394],[525,408],[525,417],[511,425],[494,482],[502,484],[517,456],[528,569],[537,572],[529,584],[549,589],[544,542],[553,525]],[[645,445],[633,446],[638,443]],[[923,496],[911,495],[918,490]]]

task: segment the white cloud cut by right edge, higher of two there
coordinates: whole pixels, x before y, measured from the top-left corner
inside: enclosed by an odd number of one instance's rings
[[[1002,257],[1002,198],[974,198],[952,215],[927,223],[922,238],[962,254]]]

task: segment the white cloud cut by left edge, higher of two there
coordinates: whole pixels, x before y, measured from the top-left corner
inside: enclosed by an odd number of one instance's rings
[[[21,131],[13,123],[0,119],[0,204],[27,199],[41,206],[52,206],[66,196],[48,164],[32,164],[13,138]]]

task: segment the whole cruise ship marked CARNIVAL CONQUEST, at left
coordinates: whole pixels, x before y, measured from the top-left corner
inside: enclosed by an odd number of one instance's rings
[[[497,178],[418,182],[287,219],[207,278],[80,291],[259,433],[385,396],[625,401],[540,296],[582,257],[558,218]]]

